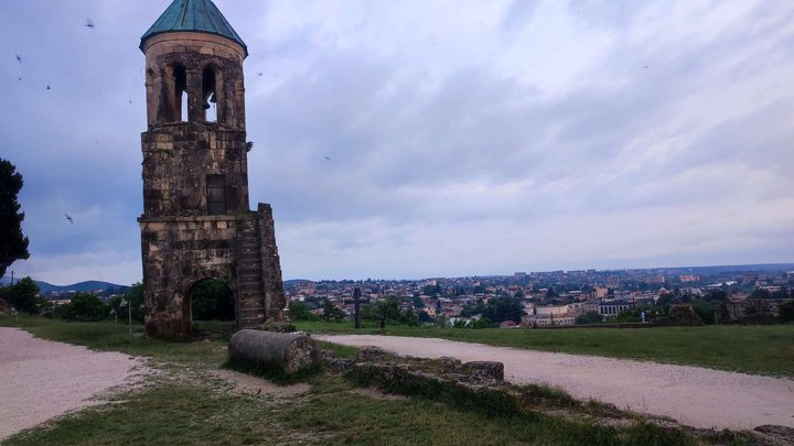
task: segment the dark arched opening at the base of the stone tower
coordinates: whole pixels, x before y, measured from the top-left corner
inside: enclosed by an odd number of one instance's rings
[[[221,338],[234,333],[235,293],[224,281],[196,282],[187,292],[185,303],[190,306],[193,337]]]

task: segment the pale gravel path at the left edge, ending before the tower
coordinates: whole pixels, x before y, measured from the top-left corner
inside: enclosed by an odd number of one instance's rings
[[[0,442],[50,418],[100,401],[93,396],[132,384],[144,368],[125,353],[37,339],[0,328]]]

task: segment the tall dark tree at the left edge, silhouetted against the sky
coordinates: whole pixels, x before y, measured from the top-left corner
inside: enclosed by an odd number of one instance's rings
[[[28,237],[22,235],[24,213],[17,195],[22,189],[22,174],[9,161],[0,159],[0,278],[17,260],[30,258]]]

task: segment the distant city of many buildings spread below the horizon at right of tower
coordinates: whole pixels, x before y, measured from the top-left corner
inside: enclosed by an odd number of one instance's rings
[[[646,308],[635,322],[651,322],[662,305],[716,303],[742,308],[757,298],[787,300],[794,290],[794,264],[748,266],[712,266],[647,270],[569,270],[551,272],[516,272],[512,275],[434,278],[426,280],[300,281],[286,283],[290,303],[302,303],[315,316],[328,313],[326,303],[345,317],[354,314],[354,291],[362,301],[377,304],[391,298],[399,309],[414,314],[420,323],[473,326],[484,306],[498,298],[519,303],[521,313],[491,320],[503,327],[544,327],[577,324],[586,313],[597,313],[602,322]],[[770,301],[771,302],[771,301]],[[717,306],[706,305],[713,313]],[[774,312],[774,309],[773,309]],[[521,317],[518,317],[521,316]],[[705,315],[715,323],[713,315]],[[742,309],[723,317],[723,323],[739,322]],[[579,319],[582,323],[581,319]],[[629,320],[626,320],[629,322]],[[587,322],[592,324],[592,320]]]

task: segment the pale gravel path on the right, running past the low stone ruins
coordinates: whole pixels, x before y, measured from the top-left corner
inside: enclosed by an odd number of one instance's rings
[[[696,427],[794,427],[794,381],[698,367],[549,353],[444,339],[318,336],[348,346],[377,346],[416,357],[500,361],[514,383],[546,383],[577,399],[666,415]]]

